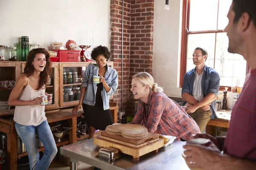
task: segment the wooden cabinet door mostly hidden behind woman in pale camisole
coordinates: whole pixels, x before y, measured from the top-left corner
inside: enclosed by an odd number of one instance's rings
[[[21,62],[21,70],[24,72],[26,62]],[[54,109],[59,107],[59,64],[58,62],[52,62],[52,75],[50,76],[49,85],[45,92],[52,94],[52,104],[45,105],[45,110]]]

